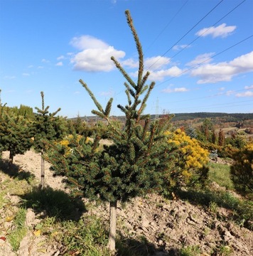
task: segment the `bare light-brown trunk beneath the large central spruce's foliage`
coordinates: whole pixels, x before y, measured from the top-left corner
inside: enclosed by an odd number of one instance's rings
[[[116,223],[117,223],[117,201],[109,203],[110,223],[109,223],[109,250],[115,251]]]

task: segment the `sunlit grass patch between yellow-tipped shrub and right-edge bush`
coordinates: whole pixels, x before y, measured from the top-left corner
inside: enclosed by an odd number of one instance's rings
[[[215,181],[219,186],[233,190],[234,186],[230,179],[230,166],[227,164],[208,164],[210,171],[208,172],[211,181]]]

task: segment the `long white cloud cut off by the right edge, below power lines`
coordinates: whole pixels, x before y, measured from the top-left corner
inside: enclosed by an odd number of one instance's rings
[[[199,84],[230,81],[235,75],[253,71],[253,51],[241,55],[230,62],[201,65],[190,72],[193,77],[200,77]]]

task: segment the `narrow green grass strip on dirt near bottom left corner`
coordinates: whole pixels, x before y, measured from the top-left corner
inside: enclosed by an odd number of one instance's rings
[[[17,251],[21,240],[26,235],[27,228],[25,226],[26,222],[26,209],[19,208],[16,217],[14,218],[14,230],[8,235],[8,240],[14,251]]]

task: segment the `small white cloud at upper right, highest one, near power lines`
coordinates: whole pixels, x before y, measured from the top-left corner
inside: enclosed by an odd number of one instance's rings
[[[197,36],[212,36],[212,38],[216,38],[216,37],[222,37],[225,38],[227,36],[229,36],[233,31],[235,31],[235,28],[237,28],[237,26],[227,26],[226,23],[222,23],[220,26],[212,26],[209,28],[203,28],[200,29],[200,31],[198,31],[196,33]]]

